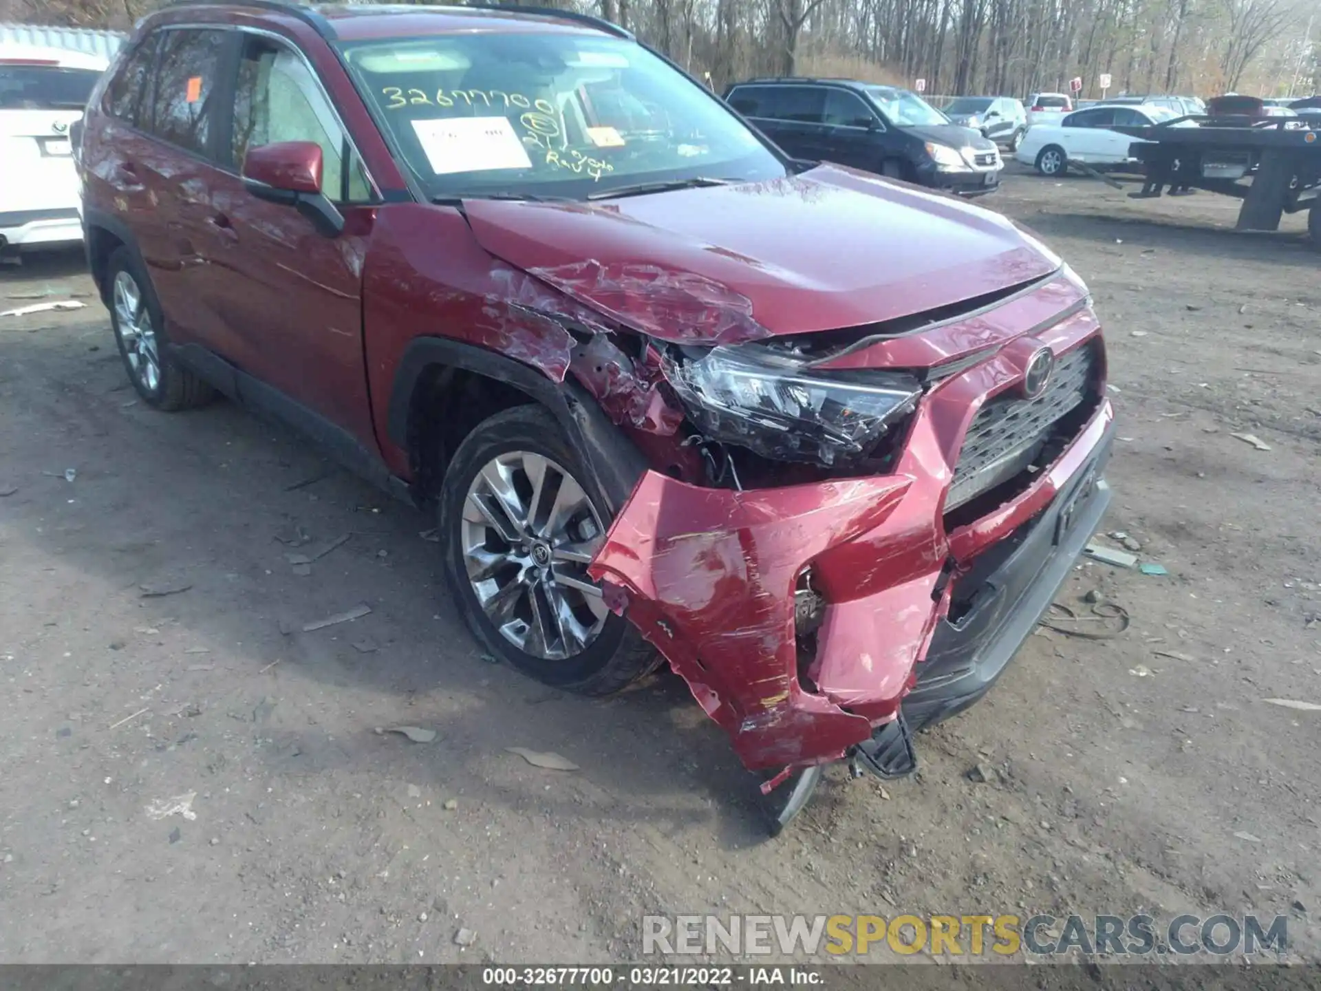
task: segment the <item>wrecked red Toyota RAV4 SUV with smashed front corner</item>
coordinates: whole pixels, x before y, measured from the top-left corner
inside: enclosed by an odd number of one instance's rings
[[[789,160],[604,21],[173,5],[77,153],[143,399],[223,392],[433,509],[473,634],[534,678],[613,691],[654,646],[773,830],[826,762],[911,770],[1108,501],[1067,266]]]

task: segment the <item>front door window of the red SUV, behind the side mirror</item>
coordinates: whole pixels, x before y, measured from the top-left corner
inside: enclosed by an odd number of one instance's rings
[[[321,145],[321,192],[330,200],[371,200],[362,161],[306,63],[276,41],[251,37],[243,46],[234,91],[231,161],[242,168],[248,148],[277,141]]]

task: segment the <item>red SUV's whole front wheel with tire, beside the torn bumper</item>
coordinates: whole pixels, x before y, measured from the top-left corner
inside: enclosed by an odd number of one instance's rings
[[[519,406],[477,424],[449,462],[437,511],[445,579],[483,650],[583,695],[651,670],[650,645],[587,575],[609,517],[548,410]]]

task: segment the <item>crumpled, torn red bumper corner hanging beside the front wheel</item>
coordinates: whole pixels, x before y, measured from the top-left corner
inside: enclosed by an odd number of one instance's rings
[[[911,484],[896,474],[733,492],[647,472],[589,573],[617,600],[624,591],[629,620],[729,733],[748,768],[836,760],[872,735],[872,719],[799,683],[794,588],[815,558],[880,526]],[[934,614],[930,592],[930,583],[921,589]],[[930,624],[919,626],[918,641]],[[867,674],[897,707],[919,642],[884,646]]]

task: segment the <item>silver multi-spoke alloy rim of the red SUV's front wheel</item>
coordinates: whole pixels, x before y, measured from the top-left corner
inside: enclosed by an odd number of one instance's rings
[[[464,499],[464,566],[477,603],[505,640],[543,661],[580,654],[601,633],[609,609],[587,566],[604,539],[587,492],[544,455],[487,461]]]

